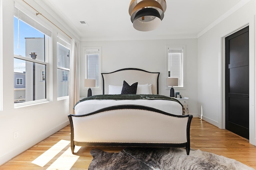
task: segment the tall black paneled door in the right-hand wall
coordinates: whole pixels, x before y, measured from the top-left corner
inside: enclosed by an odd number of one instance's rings
[[[249,26],[226,37],[226,129],[249,139]]]

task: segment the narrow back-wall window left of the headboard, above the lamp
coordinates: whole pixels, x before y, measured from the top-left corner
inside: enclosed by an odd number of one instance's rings
[[[101,84],[101,47],[85,49],[86,70],[85,78],[96,79],[96,87]]]

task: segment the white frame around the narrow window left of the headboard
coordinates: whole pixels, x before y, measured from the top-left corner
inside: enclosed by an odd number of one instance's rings
[[[88,50],[92,50],[92,49],[98,49],[99,51],[99,86],[98,87],[91,87],[92,90],[102,90],[102,47],[84,47],[83,48],[83,56],[84,56],[84,60],[85,60],[85,66],[84,66],[84,77],[82,78],[81,82],[82,82],[82,87],[83,90],[88,90],[88,87],[84,87],[84,79],[87,78],[87,56],[86,56],[86,51]]]

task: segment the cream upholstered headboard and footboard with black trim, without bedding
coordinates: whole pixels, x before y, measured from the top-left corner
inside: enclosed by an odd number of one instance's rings
[[[129,84],[152,84],[152,93],[158,94],[158,77],[159,72],[134,68],[102,73],[103,94],[108,94],[109,84],[122,85],[123,80]],[[75,145],[186,147],[189,154],[192,117],[130,104],[110,106],[84,115],[70,114],[71,150],[73,153]]]

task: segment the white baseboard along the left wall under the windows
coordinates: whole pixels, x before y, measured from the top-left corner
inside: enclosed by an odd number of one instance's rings
[[[69,124],[69,121],[65,121],[64,123],[51,129],[50,131],[48,131],[42,135],[39,135],[38,137],[35,137],[34,139],[31,139],[30,141],[27,141],[26,143],[24,143],[18,147],[15,147],[14,149],[12,149],[10,152],[8,152],[6,154],[1,155],[0,156],[0,166],[5,164],[6,162],[12,160],[12,158],[14,158],[15,156],[18,156],[22,152],[30,149],[31,147],[38,144],[42,140],[44,140],[44,139],[48,138],[49,136],[53,135],[54,133],[58,132],[60,129],[63,129],[68,124]]]

